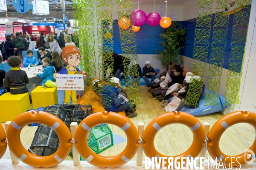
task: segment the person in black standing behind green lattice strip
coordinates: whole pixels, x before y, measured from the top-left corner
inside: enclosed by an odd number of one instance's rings
[[[109,52],[103,54],[105,66],[104,68],[108,68],[113,63],[113,76],[121,79],[121,73],[124,72],[124,66],[123,66],[123,56]]]

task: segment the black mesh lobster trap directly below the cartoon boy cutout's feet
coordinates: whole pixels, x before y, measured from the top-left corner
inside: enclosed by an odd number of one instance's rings
[[[64,105],[63,109],[67,112],[66,125],[70,128],[71,122],[77,122],[79,125],[83,119],[93,114],[91,105]]]

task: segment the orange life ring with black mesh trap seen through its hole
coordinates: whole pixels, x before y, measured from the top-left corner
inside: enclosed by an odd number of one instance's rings
[[[35,114],[35,112],[37,114]],[[32,167],[54,167],[67,158],[72,146],[72,136],[69,129],[56,116],[43,111],[28,111],[20,114],[12,120],[7,130],[9,148],[14,155]],[[31,123],[41,123],[51,127],[57,133],[60,140],[58,150],[50,156],[37,156],[27,151],[20,142],[22,128]]]

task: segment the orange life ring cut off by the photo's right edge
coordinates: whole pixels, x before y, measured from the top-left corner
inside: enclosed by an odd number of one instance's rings
[[[211,128],[208,134],[208,139],[209,141],[207,142],[208,144],[208,152],[212,159],[218,160],[218,163],[225,164],[227,167],[230,166],[231,164],[231,157],[232,159],[232,166],[241,166],[247,164],[245,162],[244,156],[247,154],[250,154],[248,152],[242,153],[240,155],[236,156],[228,156],[221,152],[219,142],[221,139],[221,135],[224,133],[224,131],[237,123],[248,123],[252,125],[253,127],[256,127],[256,113],[249,112],[249,111],[236,111],[227,114],[226,116],[223,116],[221,119],[219,119]],[[249,148],[249,150],[252,150],[254,153],[256,153],[256,142],[254,140],[252,146]],[[235,158],[234,158],[235,157]],[[240,158],[239,158],[240,157]],[[222,162],[219,162],[221,160],[224,160]],[[248,160],[250,161],[250,160]]]

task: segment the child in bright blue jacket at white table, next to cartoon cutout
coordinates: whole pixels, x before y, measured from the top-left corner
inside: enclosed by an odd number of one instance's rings
[[[46,58],[43,58],[42,62],[44,65],[43,73],[38,73],[38,74],[33,73],[33,74],[35,76],[42,78],[42,85],[44,85],[47,80],[51,80],[54,82],[54,78],[53,78],[54,68],[53,68],[53,66],[50,65],[51,60],[48,57],[46,57]],[[41,71],[41,69],[38,69],[38,70]]]

